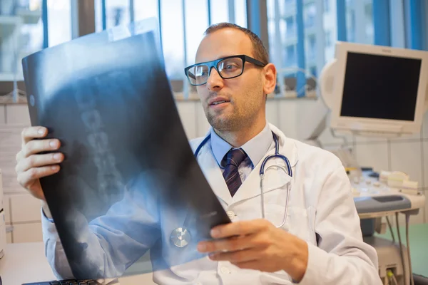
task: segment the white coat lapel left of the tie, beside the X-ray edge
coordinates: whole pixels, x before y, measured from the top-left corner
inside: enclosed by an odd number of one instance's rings
[[[226,185],[223,174],[218,166],[217,161],[211,150],[211,142],[208,141],[206,145],[200,150],[200,156],[198,157],[200,168],[208,180],[214,194],[225,204],[232,202],[232,196],[230,195],[228,185]]]

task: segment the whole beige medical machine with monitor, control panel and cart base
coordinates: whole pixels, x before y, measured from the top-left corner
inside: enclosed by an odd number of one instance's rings
[[[327,128],[327,120],[334,138],[345,134],[394,138],[420,133],[428,110],[428,53],[338,42],[335,59],[322,69],[319,83],[320,98],[302,114],[307,119],[298,128],[299,140],[323,147],[318,138]],[[396,243],[375,237],[374,232],[385,231],[382,219],[398,213],[406,215],[407,228],[409,216],[424,207],[425,197],[416,181],[399,172],[376,176],[362,171],[346,148],[352,143],[344,140],[344,145],[330,151],[348,170],[365,242],[377,250],[379,274],[388,281],[392,271],[397,284],[411,284],[409,250],[400,236]]]

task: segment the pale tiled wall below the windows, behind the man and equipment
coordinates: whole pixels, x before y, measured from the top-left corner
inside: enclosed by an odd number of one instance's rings
[[[298,130],[310,123],[310,110],[315,100],[267,100],[267,120],[290,138],[297,138]],[[178,112],[188,138],[205,135],[209,124],[198,101],[179,101]],[[31,197],[16,182],[15,155],[21,147],[21,130],[29,125],[26,105],[0,105],[0,168],[3,172],[6,224],[13,227],[8,242],[41,241],[40,202]],[[360,165],[374,170],[401,170],[412,180],[419,181],[420,190],[428,195],[428,113],[422,133],[411,138],[385,140],[379,138],[347,137],[347,145]],[[335,138],[330,130],[320,136],[325,147],[340,147],[342,138]],[[428,206],[428,203],[427,203]],[[428,222],[428,211],[422,209],[413,216],[412,223]]]

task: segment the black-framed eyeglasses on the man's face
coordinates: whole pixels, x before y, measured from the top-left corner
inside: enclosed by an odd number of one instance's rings
[[[215,68],[221,78],[230,79],[241,76],[244,72],[245,62],[253,63],[256,66],[266,66],[265,63],[255,58],[245,55],[227,56],[215,61],[193,64],[184,68],[185,75],[193,86],[200,86],[207,83],[211,69]]]

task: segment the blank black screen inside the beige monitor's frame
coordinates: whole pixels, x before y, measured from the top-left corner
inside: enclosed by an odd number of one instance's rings
[[[422,61],[347,53],[342,117],[413,121]]]

